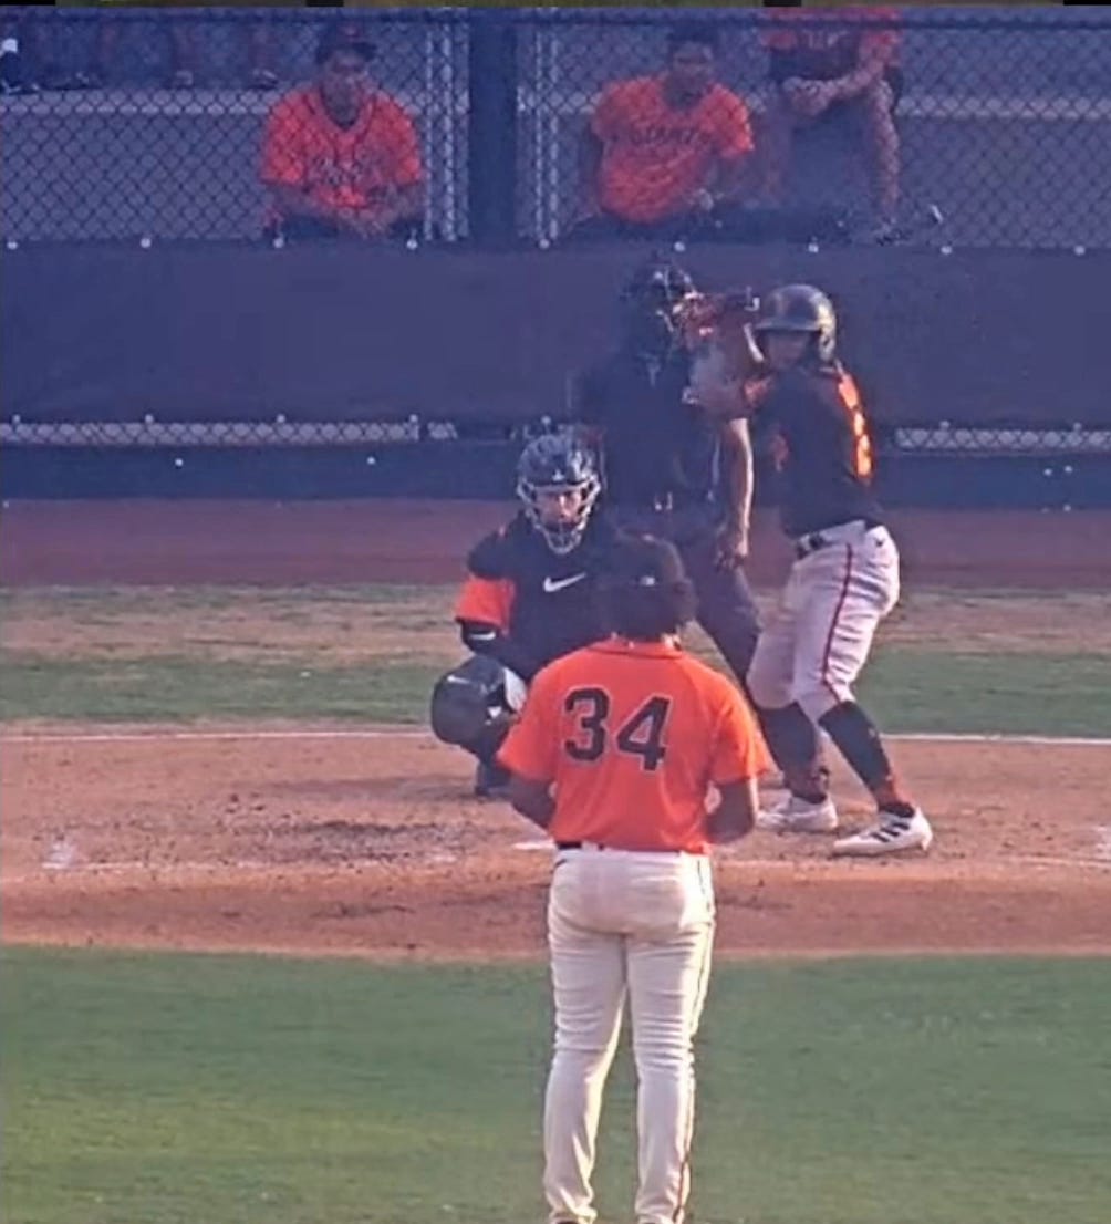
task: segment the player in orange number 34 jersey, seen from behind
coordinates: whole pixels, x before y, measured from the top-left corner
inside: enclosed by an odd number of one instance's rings
[[[695,596],[671,543],[620,542],[600,592],[615,634],[536,677],[499,753],[514,807],[557,847],[543,1187],[552,1224],[593,1224],[598,1115],[628,999],[636,1220],[682,1224],[715,923],[707,848],[751,829],[767,756],[735,687],[679,646]],[[711,782],[721,800],[707,813]]]

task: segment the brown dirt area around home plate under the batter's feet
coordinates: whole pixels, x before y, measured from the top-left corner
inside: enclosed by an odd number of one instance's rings
[[[5,745],[9,940],[542,947],[549,853],[516,848],[535,831],[471,799],[465,760],[429,738],[104,736]],[[1096,802],[1111,747],[914,742],[898,756],[923,782],[936,851],[832,862],[827,838],[754,834],[718,859],[723,952],[1111,951]],[[860,823],[863,796],[837,782]]]

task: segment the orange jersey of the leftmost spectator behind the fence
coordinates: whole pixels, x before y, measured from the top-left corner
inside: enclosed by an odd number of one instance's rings
[[[262,181],[303,187],[312,200],[357,212],[384,203],[395,188],[421,182],[421,148],[412,120],[384,93],[371,93],[350,127],[307,86],[286,94],[267,118]]]

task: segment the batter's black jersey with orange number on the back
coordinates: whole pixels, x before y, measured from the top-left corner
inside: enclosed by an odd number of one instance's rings
[[[754,379],[746,394],[757,438],[770,438],[787,535],[853,519],[883,521],[871,488],[871,427],[856,383],[839,362]]]

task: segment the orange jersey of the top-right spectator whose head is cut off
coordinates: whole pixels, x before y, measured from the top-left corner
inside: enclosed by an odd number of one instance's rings
[[[891,6],[847,5],[841,9],[776,9],[764,42],[772,51],[786,53],[790,76],[830,81],[847,76],[870,51],[881,51],[888,67],[898,61],[899,32],[894,28],[856,26],[868,21],[898,21]]]

